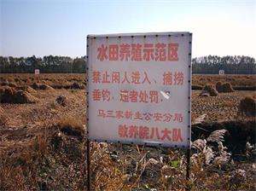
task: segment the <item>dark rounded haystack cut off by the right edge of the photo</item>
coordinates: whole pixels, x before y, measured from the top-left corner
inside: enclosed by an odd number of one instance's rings
[[[247,96],[240,101],[239,113],[246,116],[256,116],[256,100]]]

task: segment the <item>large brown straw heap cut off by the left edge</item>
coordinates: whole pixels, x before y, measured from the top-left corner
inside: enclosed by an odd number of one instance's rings
[[[38,101],[38,98],[26,91],[3,86],[0,88],[0,101],[2,103],[35,103]]]

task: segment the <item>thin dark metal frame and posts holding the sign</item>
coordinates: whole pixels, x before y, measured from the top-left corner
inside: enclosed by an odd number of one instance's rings
[[[86,44],[86,58],[87,58],[87,66],[86,66],[86,103],[87,103],[87,107],[86,107],[86,115],[87,115],[87,118],[86,118],[86,156],[87,156],[87,189],[90,190],[90,142],[108,142],[107,140],[90,140],[89,138],[89,117],[88,117],[88,113],[89,113],[89,62],[90,62],[90,58],[89,58],[89,40],[90,38],[116,38],[116,37],[135,37],[135,36],[143,36],[145,38],[146,35],[149,35],[149,36],[152,36],[152,35],[155,35],[156,37],[158,35],[161,35],[161,34],[167,34],[169,37],[173,36],[173,35],[181,35],[182,37],[184,35],[189,35],[190,36],[190,40],[189,40],[189,63],[188,64],[188,132],[189,132],[189,137],[188,137],[188,141],[189,141],[189,145],[188,147],[177,147],[177,145],[175,145],[175,147],[173,148],[183,148],[183,149],[186,149],[187,150],[187,171],[186,171],[186,178],[189,179],[189,170],[190,170],[190,149],[191,149],[191,144],[190,144],[190,141],[191,141],[191,84],[192,84],[192,80],[191,80],[191,76],[192,76],[192,66],[191,66],[191,53],[192,53],[192,33],[190,32],[154,32],[154,33],[132,33],[132,34],[108,34],[108,35],[88,35],[87,36],[87,44]],[[120,143],[120,142],[118,142]],[[134,144],[134,142],[122,142],[124,144]],[[144,143],[142,144],[144,146],[149,146],[151,145],[150,143]],[[156,144],[154,144],[154,146],[157,146]],[[170,147],[168,145],[165,145],[165,144],[158,144],[159,147]]]

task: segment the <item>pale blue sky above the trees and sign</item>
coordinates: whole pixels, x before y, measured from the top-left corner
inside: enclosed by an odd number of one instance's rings
[[[85,55],[88,34],[193,32],[192,56],[256,58],[255,0],[0,0],[0,55]]]

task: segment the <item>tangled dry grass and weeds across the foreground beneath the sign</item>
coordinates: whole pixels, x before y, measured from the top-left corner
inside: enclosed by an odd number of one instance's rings
[[[56,138],[58,137],[58,141]],[[49,142],[51,140],[51,142]],[[55,129],[51,136],[23,145],[8,159],[2,157],[1,189],[85,189],[84,148],[71,136]],[[58,143],[58,146],[55,145]],[[205,146],[209,147],[209,146]],[[218,149],[218,148],[217,148]],[[142,148],[108,143],[91,144],[92,190],[248,190],[255,188],[253,177],[234,177],[236,165],[219,168],[214,159],[206,163],[204,148],[192,155],[191,179],[185,179],[184,153],[172,149]],[[219,151],[218,151],[219,152]],[[196,158],[196,160],[195,160]],[[220,160],[222,161],[222,160]],[[76,168],[71,171],[71,166]],[[61,174],[55,172],[61,171]],[[75,170],[75,174],[74,173]],[[68,171],[63,174],[64,171]],[[53,177],[54,176],[54,177]],[[73,177],[74,176],[74,177]],[[50,177],[55,181],[50,181]],[[221,178],[220,178],[221,177]],[[70,179],[71,178],[71,179]],[[69,182],[73,180],[72,182]],[[63,181],[63,182],[62,182]],[[64,185],[64,182],[66,185]]]

